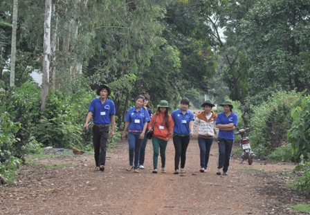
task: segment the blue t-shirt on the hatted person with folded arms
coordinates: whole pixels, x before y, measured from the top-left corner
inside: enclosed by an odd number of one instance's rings
[[[232,123],[237,127],[238,125],[238,115],[235,114],[234,112],[231,112],[228,117],[226,117],[225,112],[219,113],[217,115],[217,121],[215,124],[230,124]],[[234,140],[234,130],[233,131],[223,131],[219,130],[219,134],[217,135],[217,138],[223,138],[223,139],[228,139],[228,140]]]

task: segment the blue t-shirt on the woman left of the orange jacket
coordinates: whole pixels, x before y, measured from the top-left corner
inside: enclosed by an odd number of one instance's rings
[[[136,111],[136,106],[128,110],[125,121],[129,122],[128,130],[143,131],[145,122],[149,122],[149,113],[147,110],[140,107],[140,110]]]

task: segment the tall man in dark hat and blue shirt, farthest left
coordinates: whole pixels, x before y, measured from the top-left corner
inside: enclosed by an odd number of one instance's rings
[[[111,124],[110,138],[114,135],[115,105],[107,97],[111,94],[109,86],[99,86],[97,95],[89,105],[84,129],[88,129],[89,120],[93,117],[93,149],[95,151],[95,171],[104,171],[107,154],[107,140],[109,137],[109,124]],[[100,150],[101,149],[101,150]]]

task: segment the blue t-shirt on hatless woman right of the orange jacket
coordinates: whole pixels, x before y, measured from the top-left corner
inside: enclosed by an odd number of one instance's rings
[[[181,135],[190,134],[190,121],[194,120],[194,113],[191,111],[186,111],[185,114],[182,113],[181,109],[177,109],[171,114],[172,120],[174,121],[173,133]]]

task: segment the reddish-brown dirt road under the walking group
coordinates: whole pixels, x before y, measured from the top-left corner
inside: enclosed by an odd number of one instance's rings
[[[16,186],[0,188],[0,214],[298,214],[286,205],[309,201],[307,194],[282,186],[291,182],[294,164],[255,160],[249,166],[233,156],[228,176],[217,176],[214,142],[208,173],[200,173],[194,136],[185,176],[173,174],[172,140],[167,146],[167,174],[152,174],[152,151],[149,140],[145,169],[139,174],[125,171],[127,140],[109,149],[104,172],[93,171],[93,156],[33,160],[40,165],[22,167]]]

